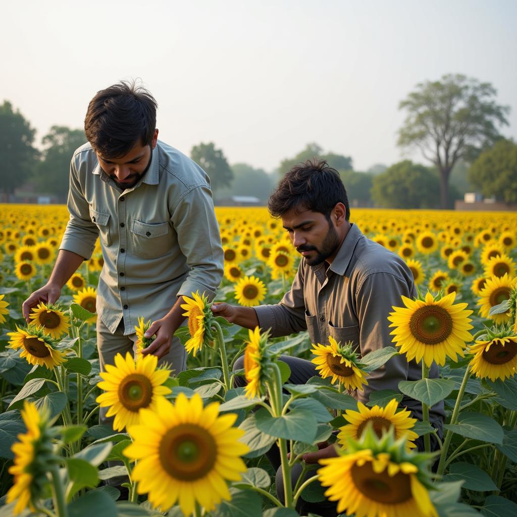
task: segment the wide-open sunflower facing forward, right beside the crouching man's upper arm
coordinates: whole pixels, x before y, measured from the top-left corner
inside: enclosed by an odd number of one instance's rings
[[[451,293],[435,299],[429,292],[425,300],[402,296],[405,308],[393,307],[395,312],[388,316],[394,327],[391,335],[408,362],[423,359],[428,367],[433,361],[443,366],[446,356],[454,362],[457,354],[465,357],[465,344],[472,341],[468,316],[473,311],[466,310],[467,303],[453,305],[455,297],[456,293]]]

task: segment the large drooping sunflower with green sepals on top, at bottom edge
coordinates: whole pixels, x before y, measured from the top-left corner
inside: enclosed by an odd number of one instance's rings
[[[370,425],[360,440],[349,439],[337,458],[320,460],[325,496],[337,512],[356,517],[437,517],[429,498],[431,454],[408,451],[393,432],[378,439]]]

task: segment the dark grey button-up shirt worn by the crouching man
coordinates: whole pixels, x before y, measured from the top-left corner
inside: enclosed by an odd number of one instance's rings
[[[406,263],[365,237],[356,224],[348,231],[336,258],[325,264],[307,266],[302,258],[291,291],[276,305],[254,307],[260,327],[271,328],[271,336],[286,336],[308,330],[312,343],[328,344],[328,337],[344,344],[352,341],[361,356],[383,346],[394,346],[388,315],[392,306],[403,307],[401,296],[414,298],[416,288]],[[433,364],[430,377],[438,377]],[[422,370],[404,355],[394,356],[368,377],[368,386],[356,394],[366,403],[374,390],[399,391],[400,381],[416,381]],[[420,402],[404,397],[402,405],[422,418]],[[445,416],[444,403],[430,409],[438,424]],[[441,427],[441,425],[440,425]]]

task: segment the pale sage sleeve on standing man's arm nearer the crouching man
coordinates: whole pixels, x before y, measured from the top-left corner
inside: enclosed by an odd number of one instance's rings
[[[211,301],[223,276],[223,249],[212,195],[207,185],[194,187],[171,210],[171,222],[189,271],[178,296],[205,293]]]

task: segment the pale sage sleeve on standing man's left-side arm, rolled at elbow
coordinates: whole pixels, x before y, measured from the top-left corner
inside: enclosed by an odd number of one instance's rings
[[[70,163],[70,189],[67,202],[70,219],[59,249],[72,251],[88,260],[94,251],[99,229],[90,219],[89,205],[84,198],[79,181],[77,161],[78,157],[74,156]]]

